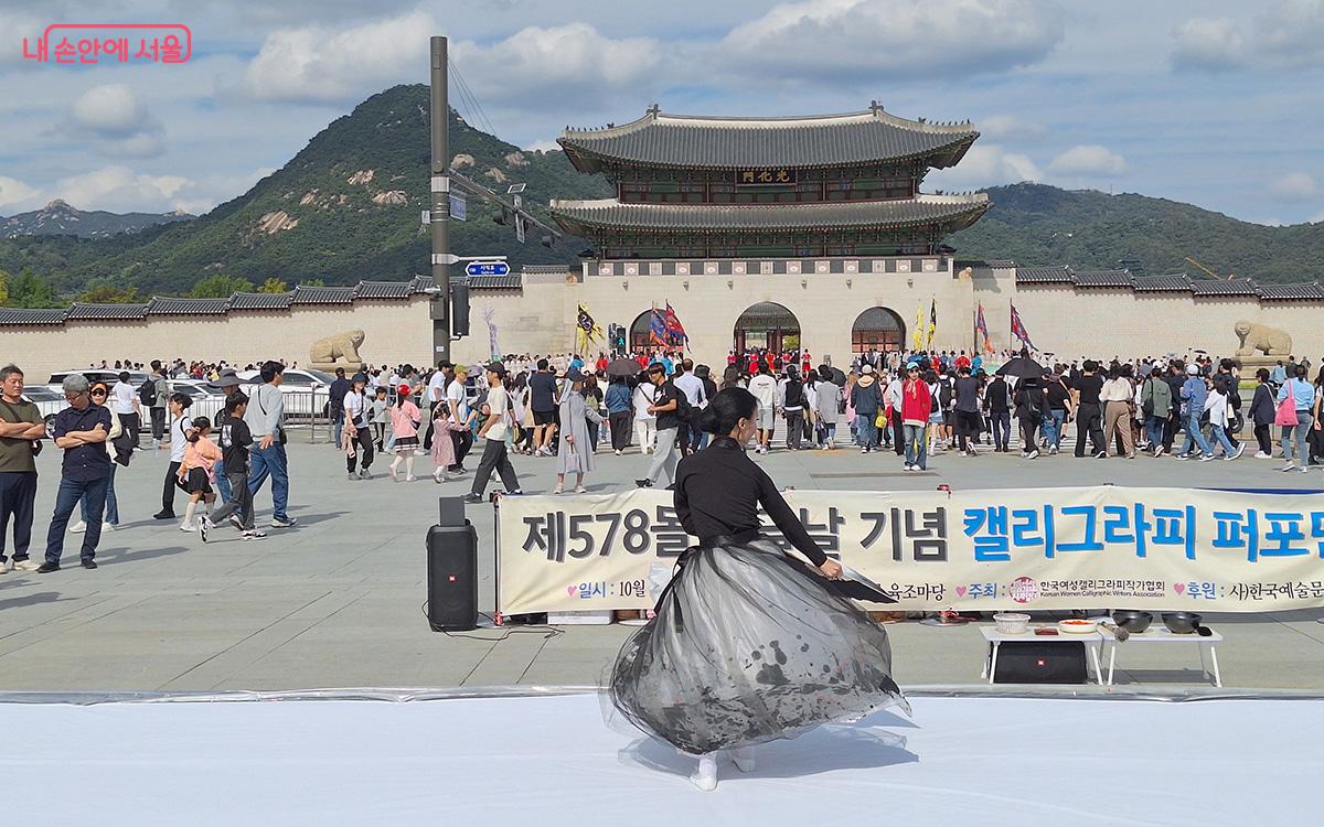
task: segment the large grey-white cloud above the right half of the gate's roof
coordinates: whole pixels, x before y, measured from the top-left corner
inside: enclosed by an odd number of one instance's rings
[[[1063,32],[1047,0],[808,0],[733,28],[710,60],[771,81],[968,77],[1035,64]]]

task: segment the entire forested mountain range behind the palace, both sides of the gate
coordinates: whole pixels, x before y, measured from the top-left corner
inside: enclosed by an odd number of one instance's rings
[[[426,273],[430,242],[420,212],[429,208],[428,103],[422,85],[376,94],[315,135],[282,169],[192,221],[98,239],[0,239],[0,270],[12,278],[26,271],[24,300],[38,303],[48,300],[41,296],[50,287],[64,298],[89,287],[105,296],[130,288],[187,295],[204,279],[351,284]],[[499,193],[507,183],[527,184],[524,204],[543,220],[548,198],[612,195],[601,176],[580,175],[563,152],[520,151],[454,111],[450,116],[453,164]],[[997,187],[989,195],[994,208],[949,239],[964,258],[1080,270],[1135,259],[1151,274],[1200,275],[1184,261],[1190,257],[1221,275],[1266,282],[1313,281],[1324,273],[1324,224],[1268,228],[1162,198],[1038,184]],[[573,265],[587,247],[568,238],[548,250],[536,233],[520,245],[493,214],[470,197],[469,221],[451,224],[451,249],[461,255],[504,253],[519,267]],[[33,275],[49,282],[44,294],[29,283]],[[16,290],[11,302],[13,295]]]

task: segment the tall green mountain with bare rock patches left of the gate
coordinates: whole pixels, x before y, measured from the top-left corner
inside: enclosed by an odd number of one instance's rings
[[[420,213],[430,206],[428,103],[426,86],[388,89],[338,118],[253,189],[200,218],[148,228],[131,241],[0,241],[0,269],[45,275],[66,295],[90,283],[187,295],[214,275],[294,286],[425,274],[430,239]],[[507,181],[527,184],[524,205],[544,221],[548,198],[610,195],[605,180],[577,173],[563,152],[522,151],[471,128],[454,111],[450,116],[455,168],[499,193]],[[451,222],[451,249],[506,254],[519,267],[577,262],[587,246],[568,238],[548,250],[536,232],[520,245],[512,228],[491,220],[494,212],[470,197],[469,221]]]

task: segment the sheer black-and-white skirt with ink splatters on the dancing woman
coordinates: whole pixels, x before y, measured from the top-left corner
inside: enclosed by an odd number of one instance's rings
[[[606,684],[624,717],[695,754],[910,712],[883,627],[768,540],[690,549]]]

